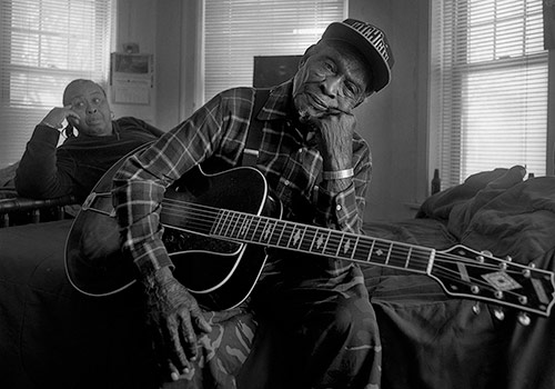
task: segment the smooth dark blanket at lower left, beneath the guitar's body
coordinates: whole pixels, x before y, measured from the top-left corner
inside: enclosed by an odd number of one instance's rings
[[[152,383],[137,291],[103,299],[75,291],[63,266],[70,226],[0,229],[0,388]]]

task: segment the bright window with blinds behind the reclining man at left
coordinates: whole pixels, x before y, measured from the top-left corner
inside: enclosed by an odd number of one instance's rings
[[[112,0],[2,0],[0,7],[2,168],[21,158],[69,81],[107,81]]]

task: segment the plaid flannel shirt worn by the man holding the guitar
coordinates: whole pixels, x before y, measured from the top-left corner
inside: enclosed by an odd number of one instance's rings
[[[355,133],[352,184],[339,193],[319,188],[322,157],[314,144],[305,142],[302,126],[295,124],[291,92],[291,81],[274,88],[258,114],[264,126],[256,168],[287,210],[286,219],[294,219],[309,205],[314,210],[312,223],[361,233],[366,186],[372,176],[370,148]],[[114,174],[112,193],[123,229],[123,249],[131,252],[142,273],[172,266],[159,222],[164,189],[199,163],[218,160],[229,167],[238,164],[253,103],[253,88],[230,89],[215,96],[153,146],[131,157]],[[332,272],[340,273],[347,266],[337,266]]]

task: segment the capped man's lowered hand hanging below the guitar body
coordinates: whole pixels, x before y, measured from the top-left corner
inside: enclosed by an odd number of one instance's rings
[[[159,362],[172,380],[190,371],[196,359],[196,332],[212,328],[191,293],[172,276],[169,268],[143,279],[147,319],[154,335]]]

